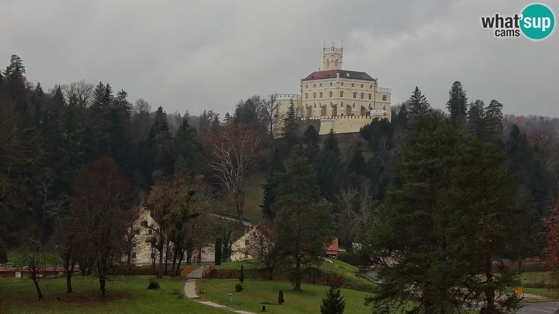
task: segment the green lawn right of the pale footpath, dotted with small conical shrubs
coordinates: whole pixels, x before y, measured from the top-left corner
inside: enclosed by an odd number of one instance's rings
[[[273,305],[267,305],[266,311],[273,314],[319,313],[320,302],[326,288],[316,284],[302,284],[302,291],[294,291],[291,289],[291,284],[286,281],[247,279],[243,283],[243,291],[236,292],[237,283],[239,283],[238,279],[201,279],[197,284],[198,288],[204,288],[201,297],[209,301],[229,306],[229,293],[233,293],[231,307],[259,312],[262,310],[262,302],[270,302]],[[280,289],[283,289],[285,300],[282,306],[277,304]],[[363,304],[367,293],[342,289],[342,294],[345,297],[345,313],[371,312],[371,309]]]

